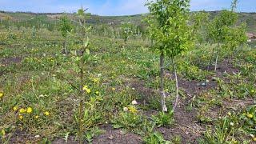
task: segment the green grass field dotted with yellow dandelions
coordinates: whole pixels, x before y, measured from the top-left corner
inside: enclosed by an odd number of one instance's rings
[[[79,99],[75,87],[79,83],[79,69],[73,53],[78,52],[78,42],[70,40],[70,54],[65,55],[58,31],[37,30],[36,38],[32,38],[32,30],[24,30],[25,33],[11,31],[16,39],[7,38],[8,32],[0,30],[3,42],[0,44],[0,92],[3,94],[0,141],[18,142],[20,138],[24,142],[51,142],[75,138]],[[107,134],[109,131],[104,126],[138,134],[147,143],[188,142],[191,139],[186,139],[187,134],[180,129],[193,135],[194,131],[188,127],[196,121],[202,126],[196,138],[198,142],[254,141],[256,50],[250,46],[244,46],[233,59],[229,57],[230,50],[222,50],[221,61],[227,60],[234,66],[230,71],[222,66],[226,72],[204,69],[214,45],[199,45],[181,56],[178,74],[182,82],[194,82],[194,87],[200,87],[205,78],[210,82],[210,78],[215,78],[216,87],[206,90],[201,87],[202,90],[194,93],[190,91],[192,85],[187,87],[181,83],[181,108],[177,114],[166,115],[155,114],[155,110],[159,110],[159,60],[158,54],[150,50],[150,42],[134,38],[125,44],[122,39],[92,35],[89,47],[91,56],[85,65],[84,85],[90,88],[90,94],[86,96],[82,119],[87,142]],[[174,80],[168,63],[165,90],[170,95],[167,99],[171,106]],[[234,70],[239,73],[234,74]],[[138,105],[132,104],[134,100]],[[192,114],[182,110],[183,105],[190,106],[190,111],[195,113],[190,123],[177,121]],[[174,133],[161,133],[162,128],[177,130],[180,136],[170,138]]]

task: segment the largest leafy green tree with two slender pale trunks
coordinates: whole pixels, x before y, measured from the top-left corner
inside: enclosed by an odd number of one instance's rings
[[[160,54],[160,94],[162,111],[167,111],[166,94],[164,91],[165,58],[170,57],[176,81],[176,98],[173,106],[178,103],[178,75],[176,58],[189,50],[192,45],[191,27],[188,23],[190,0],[156,0],[147,3],[151,18],[150,37],[154,39],[154,49]]]

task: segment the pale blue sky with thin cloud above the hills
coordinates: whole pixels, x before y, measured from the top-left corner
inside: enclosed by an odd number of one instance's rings
[[[222,10],[232,0],[190,0],[190,10]],[[0,0],[0,10],[73,13],[81,6],[98,15],[145,14],[146,0]],[[256,12],[256,0],[238,0],[238,12]]]

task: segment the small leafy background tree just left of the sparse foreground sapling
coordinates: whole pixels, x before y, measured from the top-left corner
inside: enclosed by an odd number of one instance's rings
[[[60,18],[60,27],[59,30],[62,32],[63,37],[63,51],[64,54],[67,54],[66,50],[66,42],[67,42],[67,34],[72,30],[72,25],[70,19],[65,15]]]

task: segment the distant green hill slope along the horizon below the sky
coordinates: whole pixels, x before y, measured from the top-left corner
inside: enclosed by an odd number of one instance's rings
[[[219,11],[210,11],[210,18],[214,18]],[[68,14],[73,17],[74,14]],[[144,14],[129,15],[129,16],[98,16],[88,15],[87,22],[89,24],[115,24],[118,25],[121,22],[133,22],[139,24],[142,22]],[[0,13],[0,19],[5,20],[10,18],[15,22],[31,22],[37,21],[46,24],[56,24],[56,20],[61,17],[62,14],[34,14],[34,13]],[[256,34],[256,13],[239,13],[239,22],[246,22],[248,26],[248,32]]]

